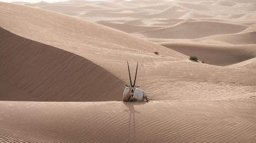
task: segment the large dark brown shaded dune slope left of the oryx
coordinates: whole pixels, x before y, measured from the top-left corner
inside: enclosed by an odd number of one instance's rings
[[[121,100],[123,82],[79,55],[0,28],[0,100]]]

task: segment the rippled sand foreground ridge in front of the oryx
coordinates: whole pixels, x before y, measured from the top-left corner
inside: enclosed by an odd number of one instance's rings
[[[242,106],[243,109],[240,108]],[[0,107],[0,111],[3,112],[2,124],[0,124],[1,141],[253,142],[255,140],[255,100],[242,103],[240,101],[194,101],[193,103],[1,101]]]

